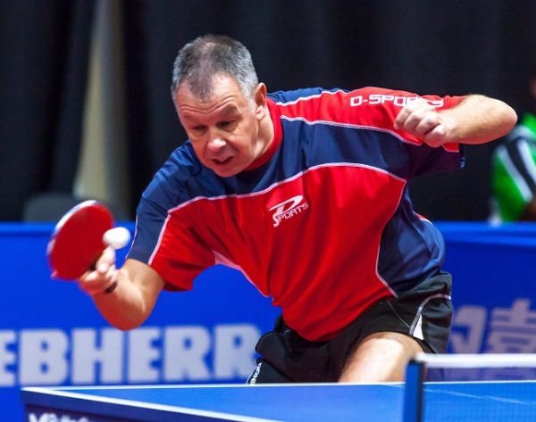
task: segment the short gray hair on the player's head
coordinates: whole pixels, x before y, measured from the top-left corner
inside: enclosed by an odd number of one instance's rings
[[[248,99],[258,78],[251,54],[239,41],[226,36],[197,37],[180,49],[173,64],[172,95],[188,83],[194,95],[206,99],[212,94],[213,79],[219,73],[234,78]]]

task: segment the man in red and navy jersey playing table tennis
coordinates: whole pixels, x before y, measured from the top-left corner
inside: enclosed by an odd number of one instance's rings
[[[415,352],[446,351],[452,310],[442,238],[408,181],[460,168],[461,144],[502,137],[515,112],[483,95],[266,90],[238,41],[180,50],[189,139],[142,195],[124,265],[109,248],[80,286],[130,329],[163,288],[229,265],[282,309],[250,383],[402,380]]]

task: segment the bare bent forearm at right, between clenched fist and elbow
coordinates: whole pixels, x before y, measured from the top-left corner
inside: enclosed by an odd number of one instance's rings
[[[467,95],[456,107],[440,112],[448,120],[448,142],[485,144],[504,137],[515,126],[512,107],[484,95]]]

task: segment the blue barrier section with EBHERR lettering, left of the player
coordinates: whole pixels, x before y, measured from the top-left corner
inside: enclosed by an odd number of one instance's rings
[[[50,278],[53,228],[0,225],[0,420],[22,420],[22,385],[243,383],[251,374],[255,343],[280,312],[238,271],[217,266],[192,292],[163,292],[141,327],[121,332],[77,285]]]

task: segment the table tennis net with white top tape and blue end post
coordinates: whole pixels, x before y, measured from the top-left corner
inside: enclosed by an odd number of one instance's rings
[[[447,381],[428,381],[432,369]],[[404,422],[536,421],[536,354],[420,354],[406,371]]]

